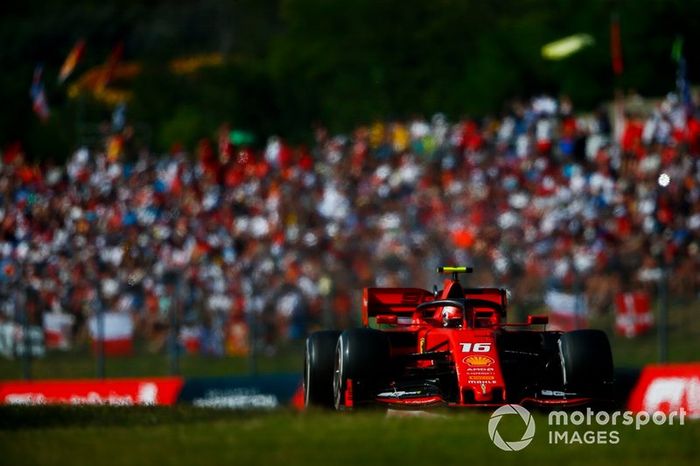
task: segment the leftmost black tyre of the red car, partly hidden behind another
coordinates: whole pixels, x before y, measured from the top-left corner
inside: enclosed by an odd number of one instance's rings
[[[333,408],[333,367],[340,332],[323,330],[306,339],[304,406]]]

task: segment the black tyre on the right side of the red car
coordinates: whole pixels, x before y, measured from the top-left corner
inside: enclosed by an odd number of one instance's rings
[[[607,335],[600,330],[575,330],[559,338],[564,388],[583,395],[604,396],[613,381],[613,360]]]

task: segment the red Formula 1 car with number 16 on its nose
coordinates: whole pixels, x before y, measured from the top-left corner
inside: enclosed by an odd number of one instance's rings
[[[611,399],[613,362],[600,330],[545,330],[546,316],[506,323],[500,288],[365,288],[362,328],[306,341],[307,406],[579,405]]]

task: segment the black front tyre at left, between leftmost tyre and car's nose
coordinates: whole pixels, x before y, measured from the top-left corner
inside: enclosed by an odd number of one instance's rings
[[[379,330],[356,328],[340,335],[333,374],[335,409],[372,401],[373,389],[387,377],[389,351],[389,339]]]

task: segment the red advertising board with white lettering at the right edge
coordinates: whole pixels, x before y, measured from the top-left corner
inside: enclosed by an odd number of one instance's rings
[[[631,411],[669,413],[684,409],[700,418],[700,363],[648,365],[628,401]]]

